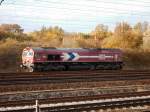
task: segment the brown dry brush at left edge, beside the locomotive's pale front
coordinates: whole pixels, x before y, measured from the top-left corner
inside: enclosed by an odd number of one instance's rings
[[[26,43],[7,39],[0,42],[0,72],[16,72]]]

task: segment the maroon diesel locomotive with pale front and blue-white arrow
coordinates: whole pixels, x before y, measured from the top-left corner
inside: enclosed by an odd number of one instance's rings
[[[32,48],[22,53],[22,67],[29,72],[69,69],[122,69],[119,49]]]

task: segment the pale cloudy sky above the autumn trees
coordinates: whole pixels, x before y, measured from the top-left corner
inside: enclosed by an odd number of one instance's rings
[[[4,0],[0,24],[19,24],[25,32],[59,26],[67,32],[90,32],[96,25],[150,22],[149,0]]]

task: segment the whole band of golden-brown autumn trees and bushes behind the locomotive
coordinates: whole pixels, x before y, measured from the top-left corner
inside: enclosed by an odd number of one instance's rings
[[[139,65],[141,68],[147,65],[150,68],[147,64],[150,63],[148,22],[139,22],[134,26],[127,22],[117,23],[114,31],[111,31],[108,26],[99,24],[89,33],[68,33],[58,26],[42,27],[40,30],[24,33],[23,28],[18,24],[1,24],[0,63],[4,64],[0,65],[0,69],[18,65],[21,50],[25,46],[120,48],[124,51],[127,68],[132,68],[134,65]]]

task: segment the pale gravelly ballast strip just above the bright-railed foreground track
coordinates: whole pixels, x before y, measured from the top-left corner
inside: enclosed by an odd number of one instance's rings
[[[75,97],[75,96],[92,96],[105,94],[120,94],[150,91],[149,85],[135,86],[116,86],[102,88],[76,88],[76,89],[57,89],[57,90],[39,90],[39,91],[20,91],[0,93],[0,102],[36,100],[47,98]]]

